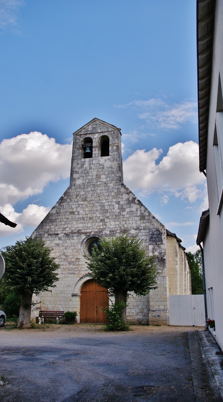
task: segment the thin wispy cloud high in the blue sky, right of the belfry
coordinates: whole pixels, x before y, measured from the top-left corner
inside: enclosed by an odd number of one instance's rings
[[[184,101],[168,105],[160,98],[149,100],[133,100],[127,105],[116,107],[133,107],[138,109],[140,119],[145,119],[147,123],[154,124],[164,129],[178,129],[181,124],[191,122],[197,123],[197,103]]]

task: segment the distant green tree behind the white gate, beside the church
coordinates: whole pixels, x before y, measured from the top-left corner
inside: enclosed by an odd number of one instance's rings
[[[187,256],[191,275],[191,293],[192,295],[202,295],[204,293],[204,290],[201,250],[199,249],[193,254],[191,252],[188,252]]]

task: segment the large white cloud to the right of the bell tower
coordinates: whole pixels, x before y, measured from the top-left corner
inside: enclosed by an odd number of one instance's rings
[[[171,146],[159,164],[155,161],[162,150],[137,150],[123,163],[126,185],[143,196],[158,192],[162,203],[169,195],[188,199],[190,203],[204,196],[205,176],[198,170],[198,144],[178,142]],[[201,188],[202,187],[202,188]]]

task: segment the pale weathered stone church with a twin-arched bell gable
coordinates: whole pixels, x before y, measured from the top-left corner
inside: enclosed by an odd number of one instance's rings
[[[57,287],[35,297],[33,317],[39,308],[77,311],[80,322],[81,289],[90,279],[84,255],[96,240],[124,232],[157,255],[158,269],[157,289],[129,295],[127,320],[168,325],[168,295],[191,294],[185,249],[123,183],[121,129],[93,119],[74,133],[70,186],[33,232],[60,264]]]

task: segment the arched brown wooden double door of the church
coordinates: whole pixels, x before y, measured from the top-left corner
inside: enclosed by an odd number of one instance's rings
[[[90,279],[84,283],[80,293],[80,322],[108,322],[107,314],[102,310],[108,307],[108,289]]]

